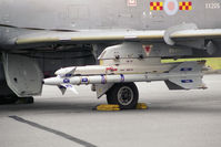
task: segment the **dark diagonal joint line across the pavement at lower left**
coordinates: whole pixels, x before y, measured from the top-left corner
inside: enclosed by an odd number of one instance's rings
[[[22,117],[19,117],[19,116],[16,116],[16,115],[14,115],[14,116],[9,116],[9,117],[12,118],[12,119],[14,119],[14,120],[18,120],[18,122],[20,122],[20,123],[28,124],[28,125],[30,125],[30,126],[32,126],[32,127],[36,127],[36,128],[39,128],[39,129],[42,129],[42,130],[52,133],[52,134],[54,134],[54,135],[58,135],[58,136],[60,136],[60,137],[63,137],[63,138],[69,139],[69,140],[71,140],[71,141],[74,141],[74,143],[77,143],[77,144],[80,144],[80,145],[82,145],[82,146],[84,146],[84,147],[97,147],[96,145],[93,145],[93,144],[91,144],[91,143],[84,141],[84,140],[79,139],[79,138],[76,138],[76,137],[73,137],[73,136],[71,136],[71,135],[68,135],[68,134],[66,134],[66,133],[62,133],[62,132],[59,132],[59,130],[56,130],[56,129],[52,129],[52,128],[42,126],[42,125],[37,124],[37,123],[34,123],[34,122],[27,120],[27,119],[24,119],[24,118],[22,118]]]

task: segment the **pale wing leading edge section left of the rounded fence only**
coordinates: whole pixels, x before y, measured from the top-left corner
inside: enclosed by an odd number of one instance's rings
[[[46,42],[102,42],[127,40],[160,40],[163,31],[88,30],[76,32],[39,32],[16,39],[16,44]]]

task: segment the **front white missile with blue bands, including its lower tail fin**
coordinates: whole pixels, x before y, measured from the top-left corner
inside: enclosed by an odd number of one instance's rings
[[[195,87],[201,87],[200,74],[174,74],[174,73],[161,73],[161,74],[120,74],[120,75],[90,75],[90,76],[72,76],[72,77],[49,77],[43,82],[46,85],[88,85],[88,84],[108,84],[108,83],[128,83],[128,82],[151,82],[151,81],[171,81],[182,87],[190,86],[193,83]],[[191,87],[192,88],[192,87]]]

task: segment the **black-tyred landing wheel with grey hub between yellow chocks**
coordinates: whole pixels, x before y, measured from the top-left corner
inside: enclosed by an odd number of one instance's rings
[[[135,108],[138,99],[139,92],[134,83],[114,84],[107,93],[108,104],[118,104],[121,109]]]

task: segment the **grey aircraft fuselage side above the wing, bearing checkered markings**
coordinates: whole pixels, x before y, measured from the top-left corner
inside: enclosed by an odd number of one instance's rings
[[[191,2],[191,10],[171,6],[178,10],[168,13],[167,0],[0,0],[0,24],[66,30],[165,30],[181,23],[221,28],[221,0],[174,1]],[[162,2],[162,10],[151,10],[151,2]]]

